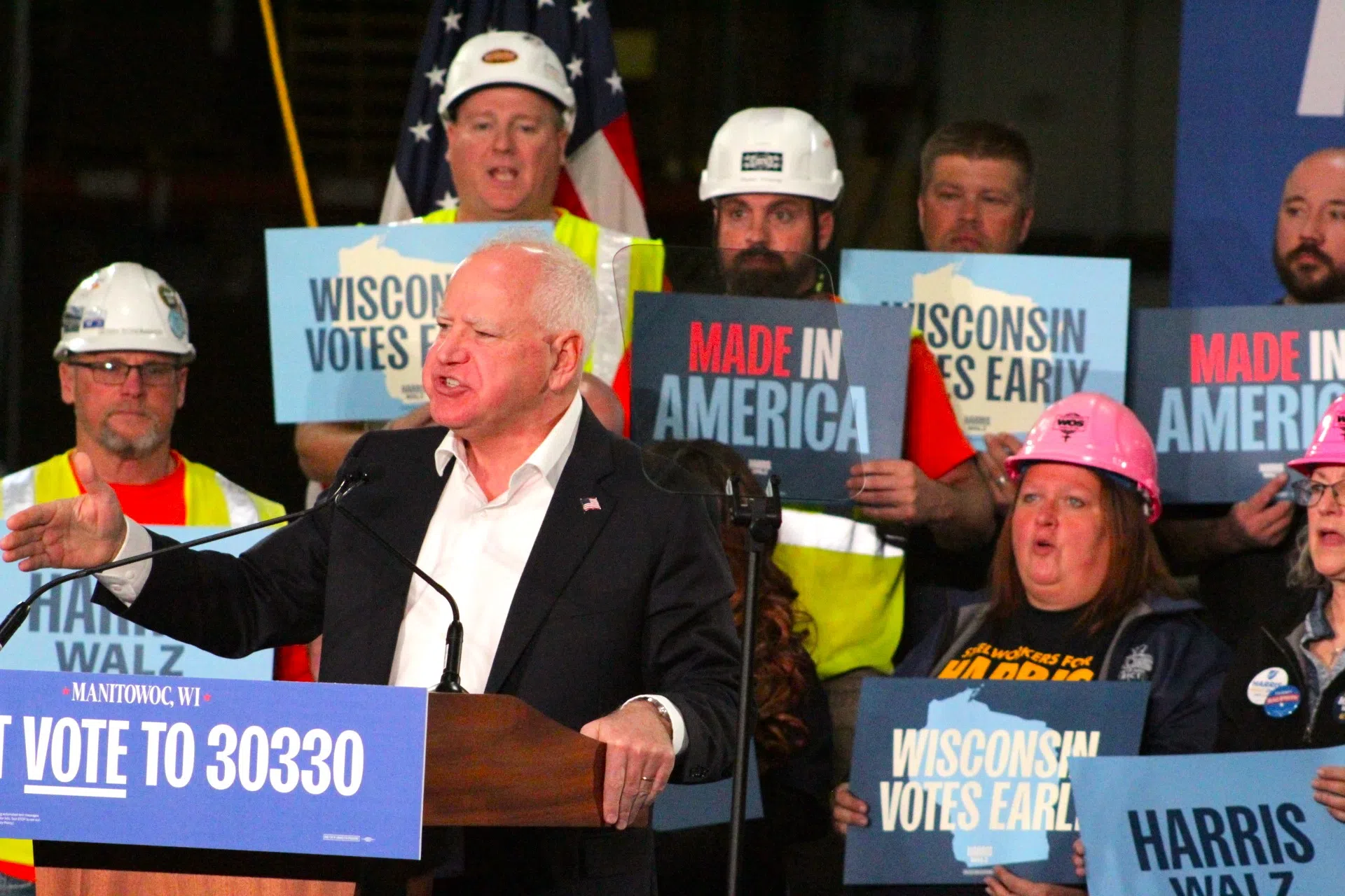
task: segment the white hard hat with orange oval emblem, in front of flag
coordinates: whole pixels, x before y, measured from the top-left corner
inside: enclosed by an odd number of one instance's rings
[[[482,87],[531,87],[565,107],[565,129],[574,129],[574,90],[546,42],[527,31],[487,31],[471,38],[448,66],[438,114]]]

